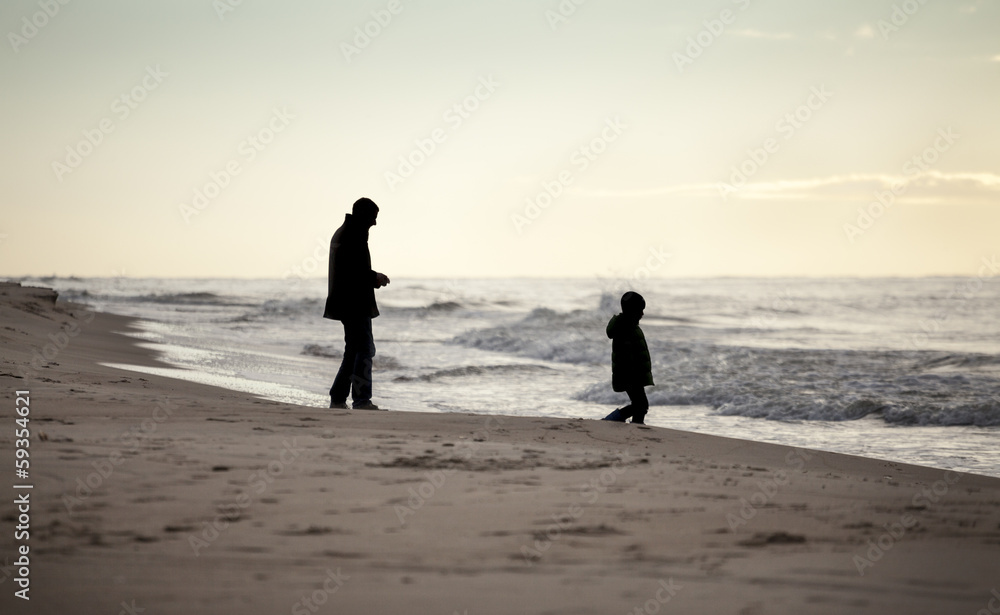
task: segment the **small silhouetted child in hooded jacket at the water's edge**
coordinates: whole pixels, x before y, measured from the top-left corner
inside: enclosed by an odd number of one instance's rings
[[[624,423],[632,417],[632,423],[643,425],[649,410],[643,387],[653,386],[653,369],[646,337],[639,328],[645,308],[646,300],[642,295],[629,291],[622,295],[622,313],[612,316],[608,322],[608,337],[612,340],[611,388],[628,393],[631,403],[604,417],[605,421]]]

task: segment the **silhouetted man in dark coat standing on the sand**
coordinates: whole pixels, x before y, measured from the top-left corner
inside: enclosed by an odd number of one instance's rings
[[[389,283],[372,270],[368,229],[375,226],[378,205],[358,199],[330,241],[330,279],[323,318],[344,323],[344,360],[330,387],[330,407],[347,408],[351,394],[355,410],[380,410],[372,403],[372,318],[378,316],[375,289]]]

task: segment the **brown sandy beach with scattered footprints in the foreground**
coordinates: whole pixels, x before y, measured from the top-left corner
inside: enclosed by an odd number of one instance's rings
[[[157,359],[129,319],[51,291],[0,286],[0,320],[4,613],[1000,604],[994,478],[595,420],[283,405],[102,366]]]

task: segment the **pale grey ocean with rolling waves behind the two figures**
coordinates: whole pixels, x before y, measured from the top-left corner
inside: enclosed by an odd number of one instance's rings
[[[20,281],[139,318],[175,366],[122,367],[329,405],[343,329],[325,278]],[[627,403],[604,332],[626,290],[646,299],[649,425],[1000,476],[994,277],[394,279],[374,401],[601,418]]]

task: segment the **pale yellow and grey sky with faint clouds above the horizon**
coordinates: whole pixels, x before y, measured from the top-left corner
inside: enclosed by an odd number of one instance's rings
[[[66,2],[66,4],[63,4]],[[0,275],[977,275],[998,0],[5,0]]]

